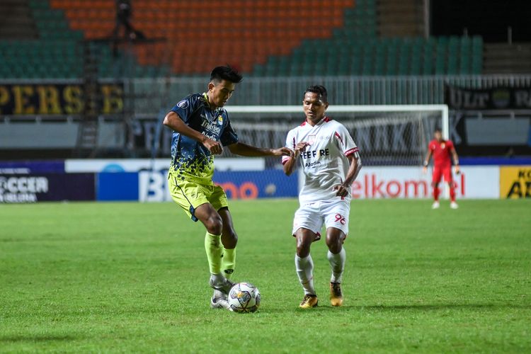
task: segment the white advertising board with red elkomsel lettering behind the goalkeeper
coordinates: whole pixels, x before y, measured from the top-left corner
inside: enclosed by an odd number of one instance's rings
[[[454,174],[457,198],[498,198],[499,171],[498,166],[462,166],[461,173]],[[428,169],[423,174],[421,167],[363,167],[352,185],[353,199],[431,198],[431,173]],[[444,184],[439,185],[442,190]]]

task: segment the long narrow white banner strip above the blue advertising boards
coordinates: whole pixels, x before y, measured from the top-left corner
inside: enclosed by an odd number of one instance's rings
[[[215,159],[217,171],[262,171],[265,160],[252,159]],[[138,172],[167,170],[170,159],[67,159],[64,161],[64,171],[67,173],[80,172]]]

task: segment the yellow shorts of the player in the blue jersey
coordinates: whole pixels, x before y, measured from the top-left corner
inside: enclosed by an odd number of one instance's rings
[[[217,211],[222,207],[228,207],[227,195],[219,185],[202,185],[190,181],[178,181],[176,176],[168,175],[168,185],[171,199],[180,205],[185,213],[193,220],[195,208],[208,202]]]

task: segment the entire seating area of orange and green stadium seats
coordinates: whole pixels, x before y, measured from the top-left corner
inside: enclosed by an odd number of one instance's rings
[[[147,38],[168,38],[168,42],[136,45],[133,74],[157,76],[166,72],[168,64],[174,75],[193,76],[219,63],[232,64],[252,76],[482,72],[481,38],[389,37],[392,27],[386,29],[380,23],[384,14],[379,13],[376,0],[307,0],[304,7],[297,0],[253,4],[250,8],[245,0],[215,1],[205,7],[202,1],[134,1],[137,28]],[[26,13],[26,21],[28,16],[33,18],[33,26],[28,27],[33,34],[26,33],[28,39],[9,32],[2,37],[0,77],[81,77],[81,40],[110,37],[114,6],[114,1],[103,0],[18,1],[18,13]],[[391,21],[389,16],[383,18]],[[408,33],[420,31],[410,28]],[[113,57],[110,45],[96,46],[98,75],[118,76],[119,58]]]

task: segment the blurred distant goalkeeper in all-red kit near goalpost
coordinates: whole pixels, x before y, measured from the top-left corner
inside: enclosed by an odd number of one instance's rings
[[[440,129],[435,130],[433,133],[433,140],[428,144],[428,155],[424,160],[424,169],[423,172],[428,172],[428,164],[430,164],[431,156],[433,155],[433,176],[432,176],[432,185],[433,185],[433,209],[437,209],[439,205],[439,183],[440,178],[444,177],[445,182],[448,183],[450,188],[450,207],[452,209],[457,209],[458,205],[455,202],[455,184],[452,178],[452,161],[450,160],[450,155],[454,160],[454,169],[455,173],[459,174],[459,157],[457,157],[457,152],[455,152],[454,143],[452,140],[442,139],[442,132]]]

